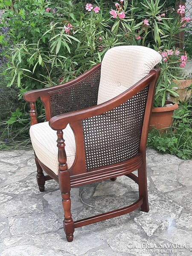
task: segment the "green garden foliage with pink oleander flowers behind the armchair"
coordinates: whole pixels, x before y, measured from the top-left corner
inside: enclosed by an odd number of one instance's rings
[[[181,76],[187,59],[185,50],[178,48],[178,35],[187,31],[191,20],[184,18],[182,8],[176,14],[175,0],[0,0],[0,5],[5,11],[0,17],[0,148],[30,143],[24,92],[79,76],[102,61],[111,47],[143,45],[159,51],[162,75],[154,105],[163,105],[168,93],[177,95],[172,80]],[[190,39],[185,45],[190,49]],[[40,101],[36,107],[39,121],[44,120]],[[151,131],[148,145],[191,158],[191,111],[189,104],[181,105],[175,115],[177,127],[166,137]]]

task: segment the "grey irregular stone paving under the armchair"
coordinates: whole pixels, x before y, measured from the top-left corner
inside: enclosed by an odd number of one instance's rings
[[[147,171],[148,213],[80,227],[68,243],[58,183],[49,180],[39,192],[32,150],[0,151],[0,256],[191,256],[192,160],[148,149]],[[73,219],[137,198],[137,184],[124,176],[74,188]]]

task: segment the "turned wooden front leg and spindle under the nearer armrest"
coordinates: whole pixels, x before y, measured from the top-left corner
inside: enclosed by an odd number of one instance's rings
[[[65,143],[63,139],[63,131],[57,131],[57,146],[58,146],[58,179],[61,190],[62,204],[64,209],[64,231],[67,241],[73,241],[74,222],[71,215],[71,199],[70,199],[70,173],[67,170],[67,156],[65,152]]]

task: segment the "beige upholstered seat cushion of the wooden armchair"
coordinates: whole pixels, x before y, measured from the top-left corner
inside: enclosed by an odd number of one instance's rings
[[[38,159],[58,175],[57,131],[50,128],[49,122],[43,122],[31,126],[30,137]],[[75,137],[70,125],[63,130],[63,137],[69,169],[73,165],[76,155]]]

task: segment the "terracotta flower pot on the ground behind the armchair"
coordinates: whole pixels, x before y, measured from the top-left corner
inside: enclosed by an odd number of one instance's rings
[[[170,101],[166,101],[166,104],[172,104]],[[160,108],[153,108],[151,113],[150,128],[154,126],[161,132],[165,131],[167,127],[170,127],[173,122],[173,111],[178,108],[177,103],[174,105]]]

